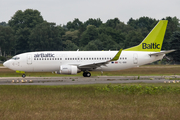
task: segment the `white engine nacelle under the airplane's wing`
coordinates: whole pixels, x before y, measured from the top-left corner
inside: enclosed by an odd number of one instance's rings
[[[61,65],[58,74],[77,74],[79,72],[77,66]]]

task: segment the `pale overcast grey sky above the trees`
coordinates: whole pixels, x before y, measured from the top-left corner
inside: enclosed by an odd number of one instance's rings
[[[118,18],[127,23],[132,17],[160,20],[167,16],[180,19],[180,0],[0,0],[0,22],[8,22],[18,10],[34,9],[44,20],[65,25],[78,18],[100,18],[103,23]]]

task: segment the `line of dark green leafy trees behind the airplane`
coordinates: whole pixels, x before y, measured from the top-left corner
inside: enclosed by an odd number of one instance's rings
[[[163,50],[180,61],[180,24],[177,17],[168,20]],[[18,10],[6,22],[0,23],[0,56],[12,56],[30,51],[119,50],[138,45],[158,23],[149,17],[130,18],[127,24],[118,18],[103,23],[100,18],[82,22],[78,18],[66,25],[56,25],[43,19],[38,10]]]

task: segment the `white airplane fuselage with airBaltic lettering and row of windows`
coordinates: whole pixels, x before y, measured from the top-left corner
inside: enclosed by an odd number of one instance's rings
[[[83,65],[112,59],[118,51],[43,51],[16,55],[15,59],[6,61],[12,70],[24,72],[54,72],[61,65]],[[160,60],[164,55],[150,56],[155,52],[122,51],[117,61],[109,62],[94,71],[116,71],[137,67]],[[17,59],[16,59],[17,58]]]

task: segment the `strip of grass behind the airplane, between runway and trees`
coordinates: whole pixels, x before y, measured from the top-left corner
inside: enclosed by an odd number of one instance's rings
[[[101,76],[101,72],[91,72],[92,76]],[[27,76],[36,77],[58,77],[67,75],[58,75],[52,73],[26,73]],[[151,76],[151,75],[180,75],[180,65],[145,65],[138,68],[131,68],[121,71],[103,72],[104,76]],[[0,77],[18,77],[21,74],[7,68],[0,68]],[[68,75],[69,76],[69,75]],[[71,76],[82,76],[82,73]]]

